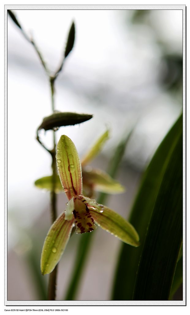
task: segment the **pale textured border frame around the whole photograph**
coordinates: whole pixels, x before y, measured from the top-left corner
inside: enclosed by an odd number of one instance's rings
[[[185,5],[5,5],[5,304],[6,306],[185,306],[183,301],[8,301],[7,300],[7,10],[183,10],[183,279],[186,279],[186,6]]]

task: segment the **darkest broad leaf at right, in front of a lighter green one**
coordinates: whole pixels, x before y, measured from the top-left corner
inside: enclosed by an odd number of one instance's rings
[[[134,300],[169,299],[183,229],[183,138],[176,137],[158,189],[142,251]]]

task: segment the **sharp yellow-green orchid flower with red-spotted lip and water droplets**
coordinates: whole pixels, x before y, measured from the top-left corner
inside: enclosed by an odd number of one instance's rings
[[[50,273],[55,268],[74,226],[76,233],[81,234],[92,232],[98,225],[123,242],[139,246],[138,234],[128,221],[106,206],[83,196],[79,155],[66,135],[62,135],[57,144],[56,159],[60,181],[69,201],[47,233],[41,254],[42,274]]]

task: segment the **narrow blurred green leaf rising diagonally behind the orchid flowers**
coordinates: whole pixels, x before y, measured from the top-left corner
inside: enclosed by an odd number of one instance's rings
[[[108,174],[111,175],[113,178],[117,174],[118,167],[124,155],[125,148],[131,136],[131,133],[132,131],[128,134],[125,140],[119,143],[119,145],[116,148],[115,154],[113,155],[110,161],[110,165],[108,167]],[[97,199],[97,202],[105,203],[106,198],[107,198],[107,194],[100,193],[99,198]],[[95,231],[93,232],[93,235],[94,234],[95,234]],[[93,235],[92,233],[90,235],[89,233],[85,233],[84,235],[81,235],[81,241],[79,242],[77,254],[74,261],[72,277],[70,279],[70,283],[68,285],[68,289],[64,298],[65,301],[72,301],[76,299],[77,290],[79,287],[79,283],[81,281],[84,266],[86,264],[86,261],[89,255],[89,249],[93,240]]]

